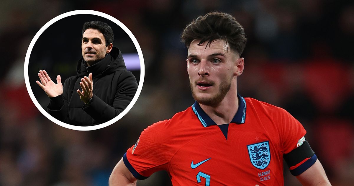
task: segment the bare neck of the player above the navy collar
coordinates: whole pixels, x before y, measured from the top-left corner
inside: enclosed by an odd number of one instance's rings
[[[217,106],[200,104],[200,107],[217,125],[230,123],[239,108],[236,87],[232,87]]]

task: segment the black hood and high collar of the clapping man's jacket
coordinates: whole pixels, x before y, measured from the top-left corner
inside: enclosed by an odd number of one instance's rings
[[[113,47],[112,50],[104,57],[101,61],[93,64],[92,66],[87,66],[84,58],[78,61],[78,66],[76,68],[76,73],[79,77],[88,76],[91,72],[93,78],[101,77],[113,73],[115,71],[126,71],[124,59],[120,50]]]

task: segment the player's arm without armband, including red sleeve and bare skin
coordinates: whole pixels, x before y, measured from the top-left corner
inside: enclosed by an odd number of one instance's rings
[[[167,170],[169,161],[176,153],[166,140],[165,124],[168,120],[154,123],[144,129],[139,139],[123,155],[109,177],[109,186],[136,185],[160,170]],[[161,155],[162,154],[162,155]]]

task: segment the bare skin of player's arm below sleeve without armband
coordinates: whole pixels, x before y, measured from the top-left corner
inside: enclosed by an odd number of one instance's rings
[[[136,185],[136,178],[125,166],[123,158],[115,165],[109,176],[109,186]]]

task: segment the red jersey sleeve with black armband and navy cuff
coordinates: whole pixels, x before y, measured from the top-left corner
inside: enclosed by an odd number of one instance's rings
[[[316,154],[305,139],[306,130],[292,115],[283,110],[279,119],[282,123],[282,145],[285,162],[290,173],[297,176],[316,162]]]

